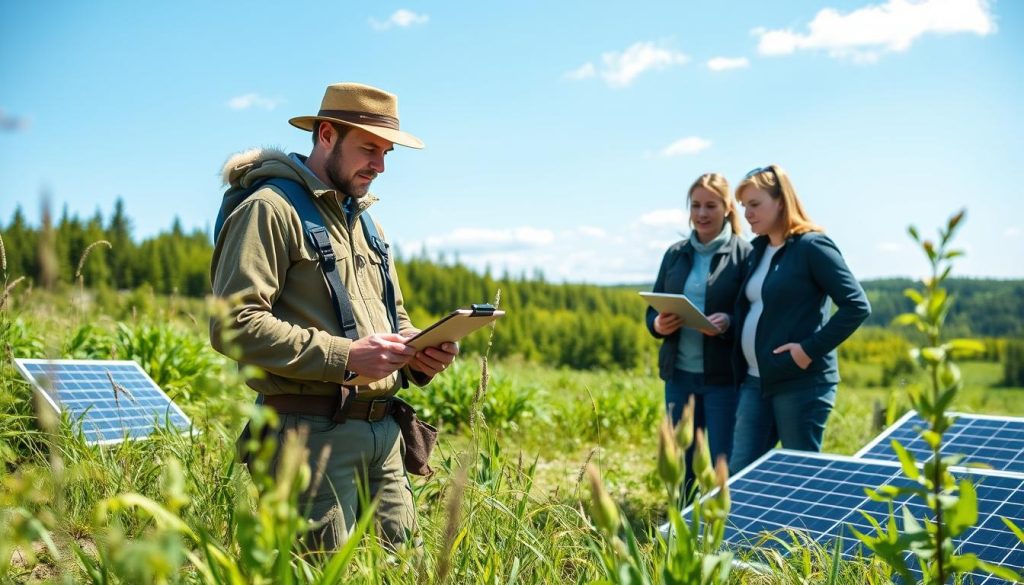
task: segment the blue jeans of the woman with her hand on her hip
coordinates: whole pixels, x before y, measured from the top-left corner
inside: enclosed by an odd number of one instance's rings
[[[761,378],[746,376],[739,386],[729,474],[753,463],[779,441],[784,449],[821,451],[825,421],[834,406],[836,384],[814,384],[764,396]]]

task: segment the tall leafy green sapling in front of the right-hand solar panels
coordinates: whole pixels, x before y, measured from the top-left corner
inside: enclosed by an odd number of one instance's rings
[[[874,527],[876,535],[868,536],[851,529],[876,555],[885,560],[906,582],[915,582],[910,563],[915,561],[923,581],[929,585],[945,585],[953,575],[981,570],[1004,579],[1019,580],[1013,570],[981,560],[975,554],[957,554],[953,540],[965,534],[978,521],[978,501],[974,485],[968,477],[957,478],[950,467],[963,461],[961,455],[942,455],[943,433],[953,424],[953,417],[946,414],[962,386],[959,369],[953,357],[966,357],[984,351],[984,346],[971,339],[943,341],[943,324],[953,298],[943,288],[952,269],[952,260],[961,255],[950,249],[952,238],[964,219],[964,211],[949,218],[945,228],[939,229],[938,244],[922,240],[914,226],[910,237],[928,256],[931,276],[921,290],[907,289],[905,294],[914,303],[913,312],[900,315],[896,325],[915,328],[926,339],[926,344],[911,350],[916,365],[927,372],[930,384],[921,388],[909,387],[911,406],[927,421],[919,429],[932,450],[931,458],[919,467],[913,455],[898,441],[892,442],[893,450],[902,464],[907,482],[890,485],[878,490],[867,490],[868,496],[890,503],[889,520],[885,527],[869,514],[862,512]],[[915,517],[906,502],[920,501],[929,510],[926,517]],[[902,527],[898,527],[893,506],[901,506]]]

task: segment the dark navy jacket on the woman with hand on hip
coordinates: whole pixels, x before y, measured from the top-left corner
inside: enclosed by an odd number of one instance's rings
[[[754,250],[746,259],[746,278],[739,288],[733,326],[737,332],[733,364],[739,380],[746,376],[746,361],[739,347],[738,332],[742,331],[751,308],[743,291],[764,256],[768,238],[755,238],[752,244]],[[838,383],[836,348],[867,319],[871,306],[831,239],[814,232],[790,237],[772,257],[761,295],[764,309],[754,350],[764,393]],[[829,317],[833,302],[837,310]],[[797,366],[788,351],[772,352],[790,342],[800,343],[811,358],[806,370]]]

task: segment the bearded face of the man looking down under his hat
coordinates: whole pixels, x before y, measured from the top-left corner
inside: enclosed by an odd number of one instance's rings
[[[331,186],[356,199],[370,192],[370,183],[384,172],[384,156],[394,144],[361,128],[352,128],[335,140],[327,160]]]

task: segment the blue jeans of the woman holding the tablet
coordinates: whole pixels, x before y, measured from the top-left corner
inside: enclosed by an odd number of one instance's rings
[[[665,383],[665,406],[673,425],[679,424],[683,407],[691,395],[693,427],[703,429],[712,460],[717,460],[719,455],[728,458],[732,451],[732,433],[736,422],[736,390],[732,386],[705,384],[703,374],[675,370]],[[686,450],[684,494],[687,495],[693,484],[693,445]]]

